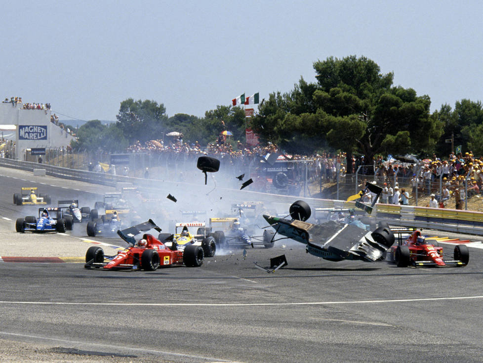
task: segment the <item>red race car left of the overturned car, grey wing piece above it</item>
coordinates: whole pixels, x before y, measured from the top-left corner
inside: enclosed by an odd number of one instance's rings
[[[144,234],[136,242],[134,236],[142,231],[161,228],[149,220],[148,222],[118,230],[119,236],[130,244],[119,251],[117,255],[107,256],[99,246],[89,247],[85,254],[86,269],[105,270],[146,270],[154,271],[161,267],[187,266],[200,267],[203,264],[203,249],[201,246],[186,246],[184,251],[171,250],[151,234]]]

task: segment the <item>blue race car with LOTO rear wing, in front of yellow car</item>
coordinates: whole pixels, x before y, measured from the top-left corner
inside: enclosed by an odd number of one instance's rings
[[[49,212],[56,212],[56,218],[52,218]],[[17,232],[61,232],[72,229],[72,221],[62,218],[62,211],[59,208],[39,208],[39,218],[27,216],[17,218],[15,229]]]

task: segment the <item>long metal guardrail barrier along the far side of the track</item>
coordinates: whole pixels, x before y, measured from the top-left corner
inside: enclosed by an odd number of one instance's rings
[[[51,165],[32,163],[27,161],[17,161],[12,159],[0,158],[0,166],[21,169],[33,172],[34,168],[41,167],[46,170],[49,176],[64,178],[77,181],[85,181],[89,183],[109,185],[116,187],[117,183],[132,183],[141,190],[156,190],[159,192],[159,186],[162,183],[163,189],[169,190],[176,188],[181,192],[193,193],[194,189],[199,190],[206,186],[200,181],[197,183],[160,181],[152,179],[141,179],[124,177],[120,175],[111,175],[105,173],[88,172],[84,170],[75,170],[61,168]],[[262,201],[283,204],[288,210],[288,206],[297,199],[302,197],[294,197],[279,194],[268,194],[249,190],[237,190],[228,188],[217,188],[224,194],[229,194],[231,201]],[[343,200],[315,199],[306,198],[305,200],[312,208],[355,208],[355,202],[346,202]],[[415,206],[401,206],[394,204],[376,204],[376,208],[372,212],[373,217],[378,220],[386,221],[395,226],[419,227],[426,229],[437,229],[457,233],[483,235],[483,213],[462,211],[455,209],[442,208],[425,208]]]

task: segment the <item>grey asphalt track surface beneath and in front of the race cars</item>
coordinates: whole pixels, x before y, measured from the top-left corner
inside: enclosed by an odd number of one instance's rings
[[[0,219],[0,231],[12,236],[15,218],[25,215],[12,204],[21,185],[11,175],[20,172],[2,171],[10,177],[0,178],[0,215],[13,221]],[[42,184],[58,199],[88,198],[99,189],[45,180],[57,185]],[[50,235],[55,242],[35,235],[40,242],[25,243],[89,247],[79,239],[81,228],[67,234],[74,235]],[[20,248],[28,235],[16,235]],[[133,362],[483,361],[482,249],[470,248],[467,267],[446,269],[333,263],[286,240],[246,251],[245,259],[232,250],[201,268],[155,272],[0,263],[0,338],[88,352],[83,358],[92,361],[105,355]],[[254,264],[268,266],[281,254],[288,266],[275,273]]]

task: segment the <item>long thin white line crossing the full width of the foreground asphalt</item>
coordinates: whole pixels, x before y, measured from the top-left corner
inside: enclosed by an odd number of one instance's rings
[[[213,303],[66,303],[66,302],[42,302],[42,301],[0,301],[0,304],[17,305],[83,305],[83,306],[299,306],[299,305],[337,305],[337,304],[381,304],[381,303],[407,303],[415,301],[447,301],[447,300],[470,300],[483,299],[483,296],[460,296],[460,297],[434,297],[421,299],[397,299],[397,300],[359,300],[359,301],[320,301],[313,303],[232,303],[232,304],[213,304]]]

